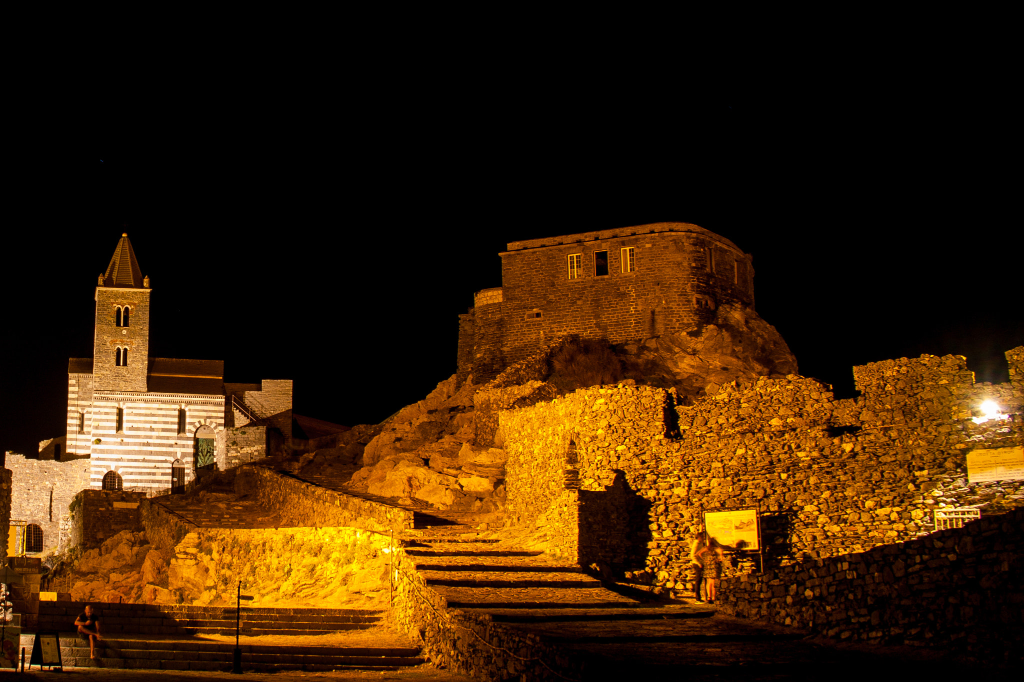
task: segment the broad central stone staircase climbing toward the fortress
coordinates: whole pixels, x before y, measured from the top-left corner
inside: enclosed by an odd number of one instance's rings
[[[450,609],[539,635],[585,661],[592,679],[813,658],[801,633],[719,616],[709,604],[659,600],[479,535],[469,526],[425,528],[408,533],[406,553]]]

